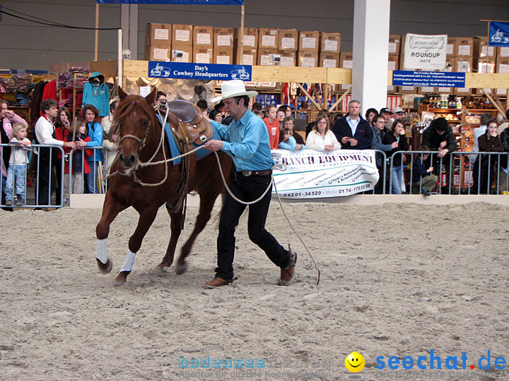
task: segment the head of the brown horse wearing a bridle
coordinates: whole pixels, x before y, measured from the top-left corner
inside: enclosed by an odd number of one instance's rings
[[[159,131],[153,101],[157,89],[146,98],[139,95],[127,95],[120,87],[119,103],[115,109],[114,123],[117,123],[119,133],[119,162],[124,167],[125,174],[131,174],[153,130]]]

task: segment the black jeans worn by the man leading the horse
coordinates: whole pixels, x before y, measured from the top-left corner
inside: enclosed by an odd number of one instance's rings
[[[230,182],[230,190],[242,201],[252,201],[264,193],[271,181],[271,176],[243,176],[242,172],[236,172],[233,181]],[[274,265],[286,267],[290,264],[290,253],[265,230],[265,221],[271,200],[271,191],[268,191],[262,200],[249,205],[247,219],[247,231],[249,238],[264,250],[267,257]],[[235,228],[247,205],[233,200],[229,193],[221,210],[219,220],[219,235],[217,239],[218,267],[216,277],[230,282],[233,279],[233,256],[235,253]]]

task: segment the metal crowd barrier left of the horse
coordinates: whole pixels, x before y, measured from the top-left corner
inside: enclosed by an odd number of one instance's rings
[[[107,191],[104,176],[106,168],[98,161],[98,151],[103,151],[105,163],[108,162],[110,152],[103,147],[87,147],[89,157],[79,155],[74,160],[76,152],[66,154],[62,147],[55,145],[32,145],[30,151],[27,151],[28,162],[23,160],[21,164],[16,164],[16,155],[13,155],[14,161],[5,171],[4,164],[9,162],[6,150],[15,147],[12,144],[0,144],[1,207],[63,207],[68,205],[73,189],[78,191],[75,193]],[[73,160],[76,164],[69,165]],[[90,168],[90,173],[83,176],[83,171],[76,171],[76,166],[78,169]],[[77,182],[75,188],[74,182]]]

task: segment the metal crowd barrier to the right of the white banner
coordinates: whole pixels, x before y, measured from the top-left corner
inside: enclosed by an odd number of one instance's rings
[[[389,193],[393,192],[394,174],[397,174],[398,169],[394,167],[394,157],[398,155],[402,159],[402,167],[406,165],[409,167],[409,194],[416,193],[433,193],[438,194],[503,194],[508,192],[509,179],[508,173],[508,152],[451,152],[447,155],[440,157],[438,151],[399,151],[394,152],[390,157],[390,181]],[[406,155],[406,163],[403,159]],[[473,159],[470,162],[467,157]],[[429,173],[436,176],[436,186],[433,191],[426,189],[431,187],[431,179],[428,176],[414,176],[414,171],[419,170],[419,163],[417,159],[423,164],[423,169],[428,171],[433,168]],[[415,181],[414,179],[419,181]],[[396,175],[397,181],[397,175]],[[496,183],[495,183],[496,181]],[[424,183],[423,183],[424,182]],[[397,186],[395,186],[397,188]],[[424,187],[424,191],[423,191]],[[419,188],[419,191],[417,191]]]

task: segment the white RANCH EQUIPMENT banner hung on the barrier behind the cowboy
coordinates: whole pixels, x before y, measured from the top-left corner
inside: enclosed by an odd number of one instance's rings
[[[272,150],[274,185],[281,198],[325,198],[371,191],[378,181],[375,151]],[[272,195],[276,191],[272,188]]]

